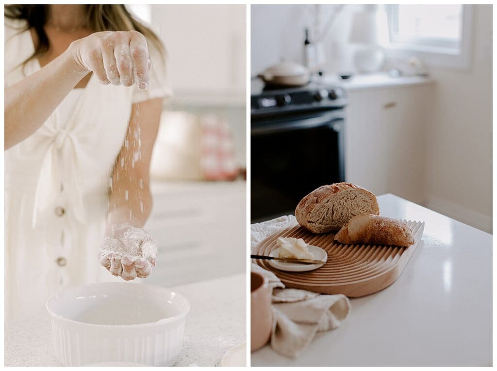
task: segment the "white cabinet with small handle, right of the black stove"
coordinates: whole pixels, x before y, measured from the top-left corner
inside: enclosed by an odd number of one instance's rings
[[[375,194],[424,201],[425,133],[430,130],[432,88],[426,82],[348,89],[347,182]]]

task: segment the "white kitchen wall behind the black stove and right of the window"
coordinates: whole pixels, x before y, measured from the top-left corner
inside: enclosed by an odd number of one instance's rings
[[[322,24],[337,5],[321,5]],[[347,5],[325,40],[326,71],[354,71]],[[281,59],[303,62],[304,29],[314,5],[251,6],[251,75]],[[428,68],[436,81],[426,131],[424,205],[492,231],[492,5],[474,5],[472,61],[467,71]],[[420,110],[423,107],[419,107]]]

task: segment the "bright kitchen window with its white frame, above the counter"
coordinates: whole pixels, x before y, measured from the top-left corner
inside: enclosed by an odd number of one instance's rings
[[[415,55],[434,66],[469,67],[472,5],[385,6],[391,56]]]

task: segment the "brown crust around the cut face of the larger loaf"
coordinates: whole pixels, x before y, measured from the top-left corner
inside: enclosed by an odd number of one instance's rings
[[[309,215],[312,213],[314,208],[320,204],[320,202],[324,201],[328,197],[330,197],[333,194],[337,194],[341,191],[344,190],[350,190],[350,189],[360,189],[363,192],[369,193],[374,197],[376,200],[376,196],[370,192],[369,190],[357,186],[352,183],[346,183],[346,182],[341,182],[341,183],[334,183],[331,185],[327,186],[321,186],[315,190],[313,190],[311,193],[306,195],[304,198],[300,200],[298,203],[297,207],[295,208],[295,218],[297,219],[297,222],[307,229],[310,232],[313,233],[324,233],[321,231],[321,229],[317,229],[315,225],[312,225],[309,223]],[[373,214],[378,215],[380,213],[380,208],[378,206],[378,202],[376,202],[376,205],[374,205],[373,210],[371,210]],[[341,227],[341,226],[340,226]],[[340,227],[336,228],[335,230],[339,229]],[[331,229],[332,230],[332,229]],[[330,232],[331,230],[327,231]]]

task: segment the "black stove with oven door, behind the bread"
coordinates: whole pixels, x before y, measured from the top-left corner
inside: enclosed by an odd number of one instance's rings
[[[345,92],[311,83],[267,89],[252,82],[251,221],[293,214],[302,197],[343,182]]]

